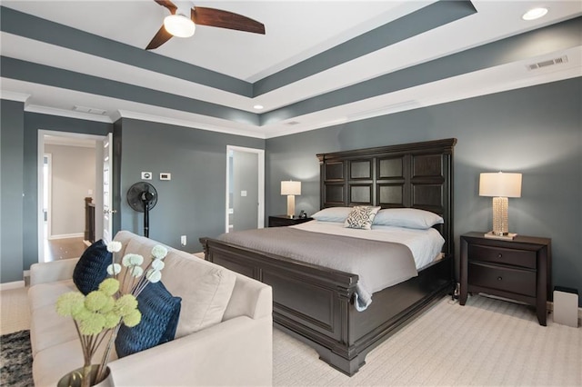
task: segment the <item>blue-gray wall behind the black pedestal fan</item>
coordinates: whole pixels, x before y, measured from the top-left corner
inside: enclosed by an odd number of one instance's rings
[[[141,171],[154,174],[158,201],[150,213],[149,236],[187,252],[200,252],[198,238],[225,232],[226,145],[265,149],[265,140],[204,130],[120,120],[121,229],[143,234],[143,213],[125,200],[127,189],[141,180]],[[116,125],[119,123],[116,123]],[[169,172],[171,181],[160,181]],[[186,247],[180,246],[186,235]]]

